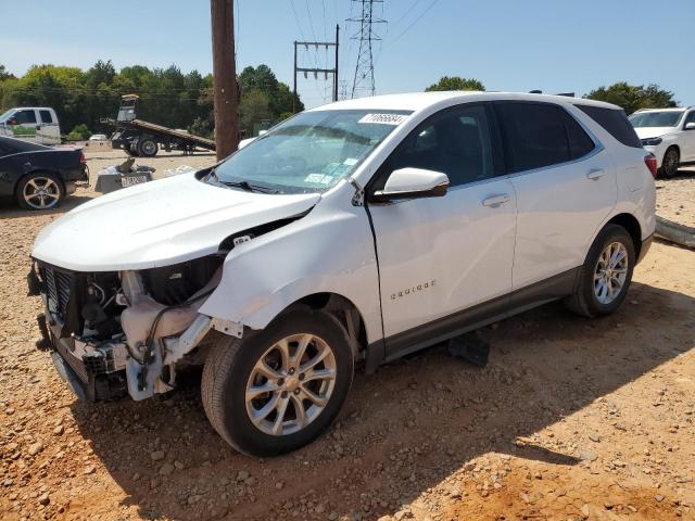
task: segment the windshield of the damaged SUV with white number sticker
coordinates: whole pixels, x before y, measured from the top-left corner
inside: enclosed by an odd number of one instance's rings
[[[247,190],[323,192],[350,176],[408,114],[304,112],[239,150],[214,174],[219,182]]]

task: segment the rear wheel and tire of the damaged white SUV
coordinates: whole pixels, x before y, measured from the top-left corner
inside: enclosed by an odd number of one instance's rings
[[[614,313],[624,301],[635,264],[632,237],[623,227],[607,225],[589,250],[567,306],[584,317]]]

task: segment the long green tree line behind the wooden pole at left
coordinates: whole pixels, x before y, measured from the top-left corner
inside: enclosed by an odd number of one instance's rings
[[[292,113],[293,94],[267,65],[245,67],[238,76],[242,135],[281,120]],[[123,94],[139,94],[138,118],[192,134],[214,132],[213,78],[198,71],[187,74],[176,66],[149,68],[132,65],[116,71],[111,61],[78,67],[34,65],[15,77],[0,65],[0,113],[13,106],[51,106],[70,138],[86,139],[91,132],[113,130],[101,118],[116,117]],[[304,109],[299,97],[298,111]],[[256,130],[254,132],[254,130]]]

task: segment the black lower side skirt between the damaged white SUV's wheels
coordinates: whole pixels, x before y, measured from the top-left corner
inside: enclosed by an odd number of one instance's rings
[[[368,353],[372,354],[370,366],[376,368],[379,364],[395,360],[425,347],[568,296],[574,290],[580,270],[581,266],[507,295],[396,333],[386,340],[379,340],[368,347]],[[377,363],[383,343],[386,343],[386,353],[380,363]]]

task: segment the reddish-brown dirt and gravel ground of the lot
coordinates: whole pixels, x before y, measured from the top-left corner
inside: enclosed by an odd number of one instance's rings
[[[92,155],[92,173],[117,156]],[[693,225],[690,176],[658,196]],[[214,433],[195,374],[161,399],[89,406],[34,348],[31,242],[93,195],[0,208],[1,519],[695,519],[695,252],[656,243],[612,317],[553,304],[484,329],[484,369],[439,346],[358,373],[327,435],[263,460]]]

